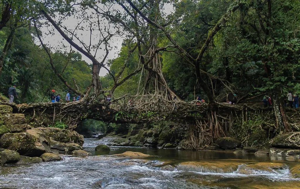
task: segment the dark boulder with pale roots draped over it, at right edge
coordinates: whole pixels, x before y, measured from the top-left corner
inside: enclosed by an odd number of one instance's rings
[[[300,132],[289,132],[280,134],[274,137],[271,146],[275,148],[292,148],[300,149],[300,144],[297,142],[300,138]]]

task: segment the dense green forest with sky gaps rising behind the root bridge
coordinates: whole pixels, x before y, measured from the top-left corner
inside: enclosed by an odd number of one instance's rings
[[[161,48],[156,51],[156,63],[167,85],[186,101],[194,100],[195,95],[211,101],[228,93],[240,98],[249,94],[278,98],[288,90],[298,93],[299,7],[299,0],[3,0],[0,92],[7,96],[8,87],[17,84],[17,103],[49,101],[51,89],[65,95],[68,87],[53,72],[38,39],[38,35],[56,32],[52,17],[69,35],[69,40],[62,35],[64,39],[87,52],[46,44],[57,72],[82,93],[91,83],[93,65],[109,70],[100,77],[101,88],[113,89],[114,98],[141,94],[144,87],[154,93],[155,77],[147,81],[153,71],[147,65],[153,45]],[[167,8],[171,11],[165,11]],[[155,22],[142,19],[143,15]],[[75,29],[72,18],[78,24]],[[101,34],[94,34],[96,31]],[[110,40],[116,36],[121,37],[122,48],[117,58],[107,60],[105,53],[115,49]],[[98,49],[105,50],[97,54]],[[82,61],[81,54],[91,55],[91,60],[104,59],[91,65]]]

